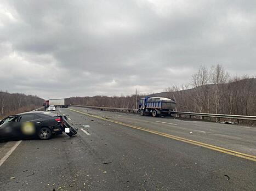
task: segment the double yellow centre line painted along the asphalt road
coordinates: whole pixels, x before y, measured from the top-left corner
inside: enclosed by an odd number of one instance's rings
[[[230,154],[232,156],[236,156],[236,157],[240,157],[240,158],[244,158],[244,159],[248,159],[248,160],[252,160],[252,161],[256,162],[256,156],[253,156],[253,155],[250,155],[250,154],[228,150],[226,148],[205,144],[203,142],[194,141],[194,140],[190,140],[190,139],[186,139],[186,138],[181,138],[179,136],[170,135],[170,134],[167,134],[167,133],[157,132],[155,130],[149,130],[149,129],[146,129],[146,128],[143,128],[143,127],[138,127],[138,126],[134,126],[132,124],[127,124],[127,123],[123,123],[123,122],[119,122],[119,121],[114,121],[114,120],[106,119],[106,118],[103,118],[103,117],[100,117],[100,116],[96,116],[96,115],[92,115],[92,114],[86,114],[84,112],[73,110],[73,109],[70,109],[70,108],[69,108],[69,110],[75,111],[75,112],[78,112],[80,114],[87,115],[87,116],[90,116],[90,117],[98,118],[100,120],[109,121],[109,122],[116,123],[116,124],[121,124],[122,126],[127,126],[127,127],[131,127],[131,128],[134,128],[134,129],[143,130],[144,132],[149,132],[149,133],[161,135],[161,136],[164,136],[166,138],[179,140],[179,141],[182,141],[182,142],[186,142],[188,144],[197,145],[197,146],[201,146],[201,147],[204,147],[204,148],[209,148],[209,149],[214,150],[214,151]]]

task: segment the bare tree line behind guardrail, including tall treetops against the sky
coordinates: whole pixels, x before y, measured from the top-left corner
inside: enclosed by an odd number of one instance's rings
[[[134,93],[131,96],[72,97],[71,104],[136,108],[136,102],[145,96]],[[201,65],[189,83],[172,85],[164,92],[149,96],[175,99],[178,111],[256,115],[256,79],[231,76],[220,64],[211,68]]]

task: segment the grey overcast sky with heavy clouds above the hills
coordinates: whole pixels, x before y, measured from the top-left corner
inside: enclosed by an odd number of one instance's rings
[[[200,65],[256,74],[256,1],[0,0],[0,89],[120,96],[187,83]]]

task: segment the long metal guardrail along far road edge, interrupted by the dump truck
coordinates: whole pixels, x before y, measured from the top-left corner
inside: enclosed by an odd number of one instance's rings
[[[128,109],[128,108],[107,108],[107,107],[98,107],[98,106],[84,106],[84,105],[71,105],[81,108],[91,108],[91,109],[98,109],[103,111],[116,111],[116,112],[128,112],[128,113],[135,113],[138,114],[138,109]],[[213,118],[229,118],[234,120],[253,120],[256,121],[256,116],[246,116],[246,115],[225,115],[225,114],[204,114],[204,113],[195,113],[195,112],[182,112],[182,111],[174,111],[172,114],[179,115],[186,115],[191,118],[191,116],[199,116],[202,117],[213,117]]]

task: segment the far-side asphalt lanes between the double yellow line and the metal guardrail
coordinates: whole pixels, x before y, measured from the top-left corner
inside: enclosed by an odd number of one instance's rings
[[[72,109],[72,108],[71,108]],[[100,111],[87,108],[74,108],[104,118],[145,127],[158,132],[204,142],[229,150],[256,156],[256,128],[241,127],[203,121],[182,121],[170,117],[151,117],[119,112]],[[192,132],[192,133],[191,133]]]

